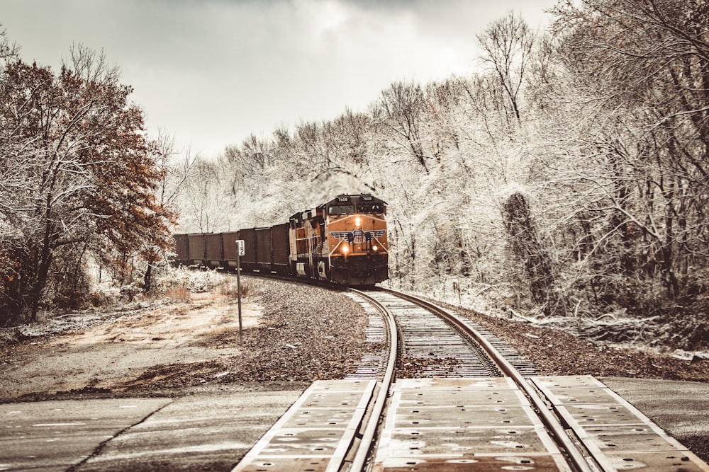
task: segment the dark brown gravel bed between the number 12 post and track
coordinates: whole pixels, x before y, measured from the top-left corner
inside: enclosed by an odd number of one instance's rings
[[[203,362],[156,366],[121,386],[175,388],[207,381],[315,381],[354,372],[364,350],[367,315],[350,297],[332,289],[248,277],[250,303],[262,307],[260,324],[203,340],[240,345],[241,354]]]

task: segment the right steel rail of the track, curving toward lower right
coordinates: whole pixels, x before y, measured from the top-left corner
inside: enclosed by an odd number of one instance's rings
[[[553,434],[553,436],[557,439],[557,442],[559,442],[559,445],[566,451],[566,454],[569,456],[571,461],[571,466],[574,466],[577,472],[596,471],[595,468],[591,468],[591,466],[588,465],[588,458],[584,456],[581,449],[579,449],[579,447],[577,447],[571,440],[569,434],[567,434],[566,430],[564,430],[563,425],[559,422],[556,415],[554,415],[554,413],[547,408],[547,405],[539,396],[537,391],[535,391],[535,389],[532,388],[532,386],[525,380],[522,374],[520,374],[518,370],[515,369],[515,367],[513,367],[507,359],[505,359],[505,357],[503,357],[496,347],[494,347],[489,340],[486,340],[476,329],[468,326],[468,324],[459,318],[459,316],[441,308],[440,306],[430,303],[430,301],[420,299],[411,294],[397,292],[393,289],[385,289],[380,287],[379,290],[396,295],[396,297],[407,299],[408,301],[412,301],[420,306],[425,306],[426,309],[430,309],[435,313],[440,313],[441,316],[444,316],[447,320],[453,323],[454,326],[462,330],[464,333],[471,335],[471,337],[479,343],[479,345],[485,350],[485,352],[487,352],[493,361],[498,364],[500,370],[510,377],[510,379],[513,379],[515,384],[517,384],[518,387],[525,393],[527,398],[530,399],[532,405],[535,406],[537,412],[542,418],[542,421],[547,427],[547,430]]]

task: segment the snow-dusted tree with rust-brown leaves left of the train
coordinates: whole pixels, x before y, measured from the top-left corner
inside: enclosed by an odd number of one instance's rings
[[[118,71],[83,47],[55,73],[10,59],[0,74],[0,312],[34,318],[50,280],[84,255],[125,267],[169,244],[171,215],[143,113]],[[72,253],[72,257],[65,257]]]

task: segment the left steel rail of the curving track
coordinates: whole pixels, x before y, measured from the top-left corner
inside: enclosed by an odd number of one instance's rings
[[[364,470],[364,464],[367,462],[367,458],[369,457],[369,451],[372,450],[372,446],[374,445],[376,430],[379,427],[381,415],[384,413],[384,406],[386,405],[386,398],[389,396],[391,384],[393,384],[394,372],[396,370],[396,357],[398,354],[398,331],[396,330],[396,320],[386,306],[381,304],[376,299],[369,297],[369,295],[361,290],[352,288],[349,290],[376,306],[376,308],[384,314],[384,320],[389,325],[389,362],[386,364],[386,373],[384,374],[384,379],[381,381],[379,393],[377,394],[374,405],[372,406],[372,414],[369,416],[364,432],[362,432],[362,439],[360,439],[360,446],[357,449],[357,454],[355,454],[354,459],[352,459],[352,465],[350,466],[351,471],[359,472]]]

